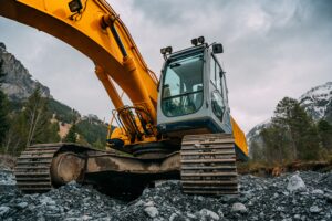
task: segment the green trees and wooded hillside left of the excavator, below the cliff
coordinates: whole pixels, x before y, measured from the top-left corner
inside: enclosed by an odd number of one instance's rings
[[[42,97],[39,88],[22,103],[8,102],[0,92],[0,152],[19,155],[30,145],[59,141],[106,147],[107,126],[103,122],[95,116],[81,118],[76,110]],[[61,123],[72,124],[62,140]]]

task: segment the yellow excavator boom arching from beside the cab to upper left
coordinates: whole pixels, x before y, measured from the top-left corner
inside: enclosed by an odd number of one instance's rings
[[[81,51],[94,62],[96,75],[117,110],[125,105],[113,81],[134,107],[144,110],[145,122],[156,124],[157,78],[106,1],[1,0],[0,15],[46,32]],[[129,115],[125,109],[120,118],[133,135],[137,124]]]

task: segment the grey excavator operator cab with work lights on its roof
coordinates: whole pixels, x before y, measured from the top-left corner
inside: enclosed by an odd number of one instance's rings
[[[199,40],[199,39],[198,39]],[[200,39],[201,40],[201,39]],[[169,137],[231,133],[225,72],[215,54],[221,44],[200,43],[172,53],[163,49],[157,125]],[[167,54],[168,51],[168,55]]]

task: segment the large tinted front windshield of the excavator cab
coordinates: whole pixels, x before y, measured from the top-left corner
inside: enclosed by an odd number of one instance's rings
[[[168,117],[197,112],[203,105],[203,53],[168,63],[162,94],[162,109]]]

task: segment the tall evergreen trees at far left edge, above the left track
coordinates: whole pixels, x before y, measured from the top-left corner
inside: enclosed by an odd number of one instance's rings
[[[18,155],[27,146],[41,143],[58,143],[58,123],[51,123],[52,113],[48,107],[49,99],[42,97],[40,90],[22,104],[20,110],[11,110],[10,126],[1,145],[1,151]]]

